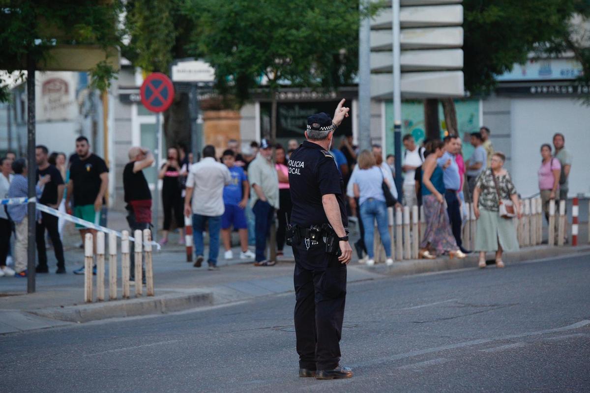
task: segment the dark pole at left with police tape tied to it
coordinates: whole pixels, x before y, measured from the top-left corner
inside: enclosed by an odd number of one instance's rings
[[[28,203],[27,203],[27,293],[35,292],[35,185],[37,184],[37,163],[35,162],[35,58],[27,56],[27,180],[28,180]]]

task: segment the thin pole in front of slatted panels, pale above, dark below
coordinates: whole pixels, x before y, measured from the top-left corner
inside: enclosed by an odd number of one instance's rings
[[[394,76],[394,154],[395,154],[395,188],[402,195],[402,98],[401,98],[401,64],[399,47],[399,0],[391,2],[393,17],[393,76]]]

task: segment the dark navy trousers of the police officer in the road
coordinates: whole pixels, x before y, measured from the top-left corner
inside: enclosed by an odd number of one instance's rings
[[[322,241],[310,245],[302,239],[293,245],[299,367],[311,370],[334,369],[340,361],[346,265],[325,249]]]

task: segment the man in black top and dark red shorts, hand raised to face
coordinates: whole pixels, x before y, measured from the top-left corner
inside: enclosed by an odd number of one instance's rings
[[[123,190],[127,222],[133,234],[137,229],[143,231],[152,226],[152,193],[143,176],[143,169],[153,164],[153,154],[145,147],[132,147],[129,149],[129,160],[123,169]],[[130,277],[135,280],[135,256],[130,255],[130,259]],[[142,281],[145,283],[145,275],[142,275]]]

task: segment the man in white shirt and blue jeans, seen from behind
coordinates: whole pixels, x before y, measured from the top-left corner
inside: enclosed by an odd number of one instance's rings
[[[203,232],[209,222],[209,270],[218,270],[221,216],[225,212],[223,189],[230,184],[231,174],[222,163],[215,161],[215,147],[205,146],[203,159],[191,166],[186,179],[185,216],[192,214],[195,267],[201,267],[205,246]],[[192,197],[192,207],[191,207]]]

